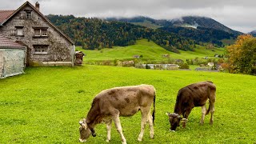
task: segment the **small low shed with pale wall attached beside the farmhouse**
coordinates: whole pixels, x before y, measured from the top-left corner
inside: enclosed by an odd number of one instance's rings
[[[0,78],[24,73],[26,46],[0,34]]]

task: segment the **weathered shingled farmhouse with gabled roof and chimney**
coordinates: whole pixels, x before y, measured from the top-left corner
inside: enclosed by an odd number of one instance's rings
[[[0,34],[26,47],[26,66],[74,66],[74,42],[35,6],[0,10]]]

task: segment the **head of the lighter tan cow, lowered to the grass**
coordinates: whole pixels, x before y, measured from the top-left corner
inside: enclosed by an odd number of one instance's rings
[[[90,134],[92,134],[94,137],[96,136],[94,129],[90,130],[89,126],[87,126],[85,118],[83,118],[82,121],[79,122],[79,124],[80,142],[86,142],[86,140],[90,137]]]

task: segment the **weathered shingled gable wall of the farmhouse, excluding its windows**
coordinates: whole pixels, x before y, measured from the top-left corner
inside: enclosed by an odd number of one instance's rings
[[[24,10],[32,10],[31,18],[21,18],[21,12]],[[11,34],[11,30],[15,30],[17,26],[24,26],[23,36]],[[34,27],[47,28],[47,36],[35,37]],[[8,38],[26,44],[29,66],[74,66],[74,45],[29,5],[24,6],[8,22],[0,26],[0,32]],[[47,54],[35,54],[34,45],[47,45]]]

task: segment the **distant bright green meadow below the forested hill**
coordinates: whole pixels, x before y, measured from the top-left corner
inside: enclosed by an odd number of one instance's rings
[[[77,47],[77,50],[82,50],[81,47]],[[82,50],[86,57],[85,61],[97,61],[97,60],[114,60],[114,59],[131,59],[134,55],[142,55],[142,61],[146,60],[157,60],[166,61],[168,58],[163,58],[163,54],[170,54],[170,58],[173,59],[194,59],[194,58],[214,58],[214,54],[224,54],[223,48],[214,48],[213,50],[206,50],[204,46],[197,46],[194,52],[182,51],[181,54],[172,53],[168,50],[163,49],[154,42],[147,42],[146,39],[138,40],[133,46],[114,46],[113,49],[102,49],[102,50]]]

